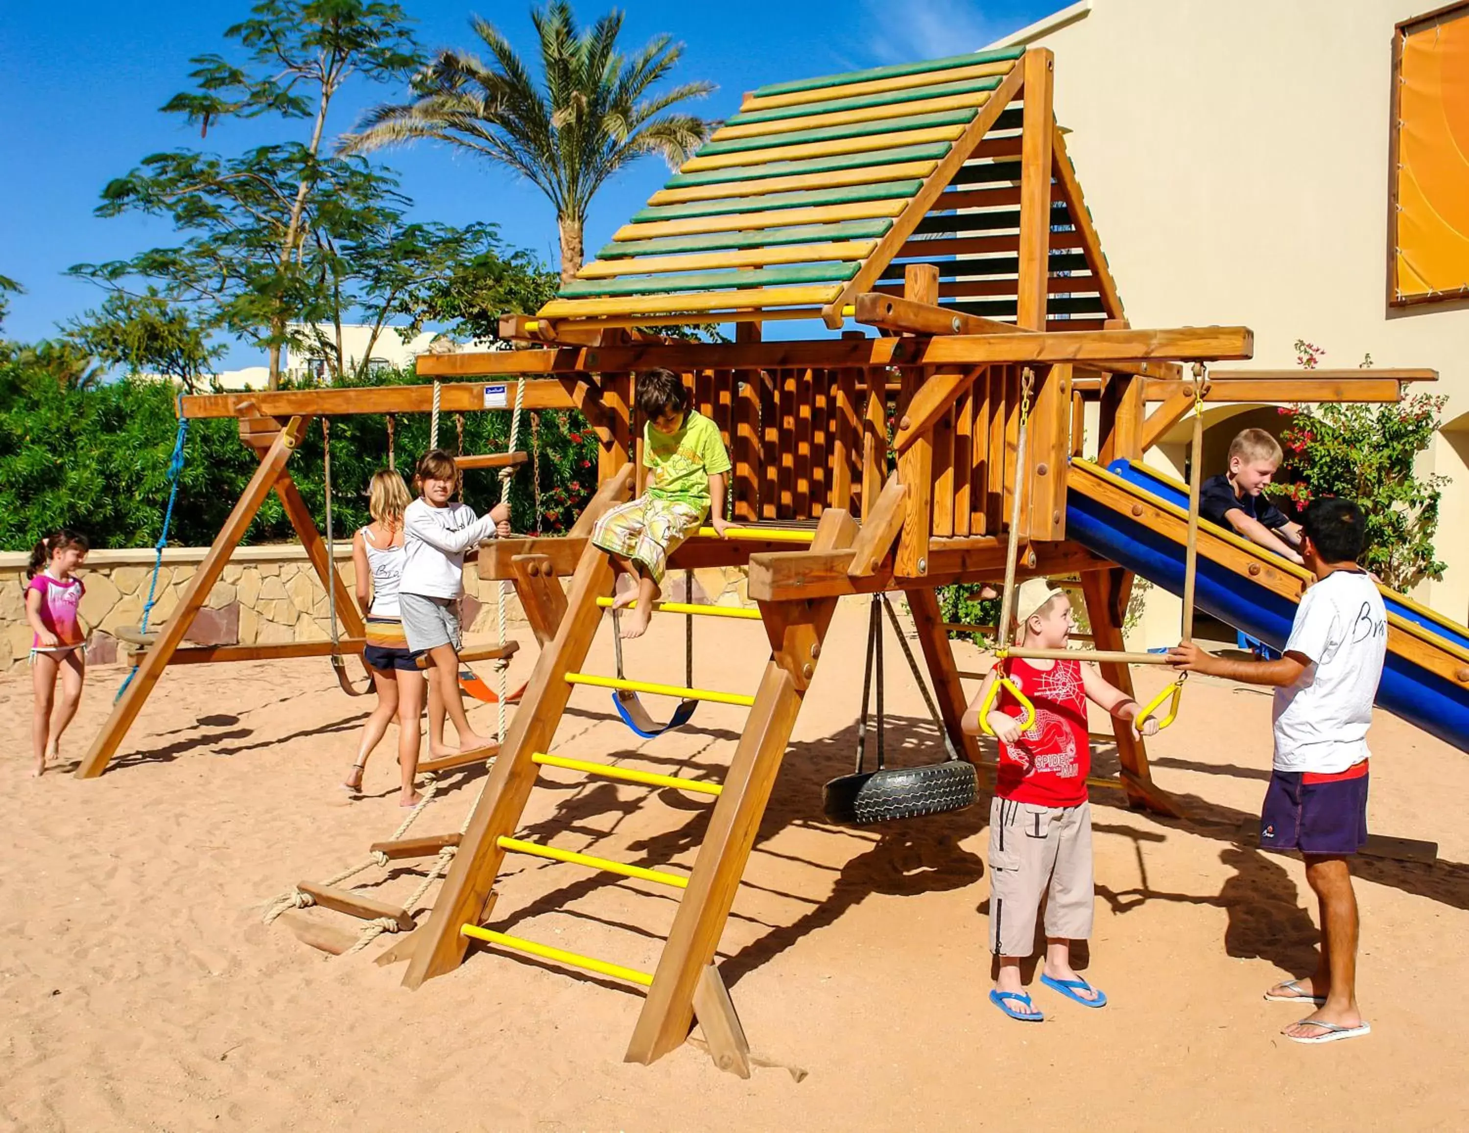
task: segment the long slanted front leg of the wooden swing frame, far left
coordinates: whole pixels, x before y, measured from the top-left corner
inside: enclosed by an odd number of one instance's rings
[[[107,763],[118,752],[118,747],[122,744],[122,738],[128,735],[128,729],[132,722],[138,719],[138,713],[142,711],[144,701],[148,699],[148,694],[153,686],[159,683],[159,677],[163,676],[163,670],[173,655],[173,651],[184,641],[184,635],[188,633],[190,626],[194,625],[194,616],[198,613],[204,600],[209,597],[210,589],[219,582],[219,576],[225,572],[225,563],[229,561],[231,553],[239,545],[239,541],[245,536],[250,529],[250,523],[256,517],[256,511],[260,510],[260,504],[270,494],[270,488],[275,485],[276,478],[285,469],[286,461],[291,458],[291,453],[295,451],[297,444],[301,439],[301,434],[306,431],[310,417],[291,417],[286,426],[276,435],[275,441],[270,442],[270,448],[266,450],[264,457],[260,460],[260,467],[256,469],[256,475],[250,478],[250,483],[245,485],[245,491],[241,494],[239,500],[235,501],[235,507],[231,510],[229,517],[225,520],[225,526],[219,529],[219,535],[214,536],[214,542],[209,548],[209,554],[204,555],[204,561],[198,564],[194,572],[194,578],[190,579],[188,588],[184,591],[184,598],[179,601],[178,608],[159,630],[157,642],[142,655],[142,661],[138,664],[137,672],[132,675],[132,680],[128,683],[128,691],[122,694],[122,698],[113,705],[112,716],[107,717],[107,723],[103,724],[101,732],[93,739],[91,747],[87,754],[82,755],[81,764],[76,767],[78,779],[95,779],[104,770],[107,770]],[[353,607],[355,610],[355,607]],[[360,633],[360,630],[358,630]]]

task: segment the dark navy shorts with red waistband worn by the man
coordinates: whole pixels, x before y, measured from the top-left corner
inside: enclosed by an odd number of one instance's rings
[[[1260,808],[1260,849],[1356,854],[1368,841],[1368,761],[1335,774],[1275,771]]]

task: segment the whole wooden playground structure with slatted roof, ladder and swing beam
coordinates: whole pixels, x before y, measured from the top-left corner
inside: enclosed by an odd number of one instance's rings
[[[179,648],[270,491],[325,585],[339,588],[348,642],[360,648],[360,617],[286,470],[313,416],[429,411],[435,401],[445,411],[486,411],[504,404],[504,389],[486,381],[521,381],[527,410],[586,416],[599,439],[601,488],[569,536],[495,541],[480,551],[482,578],[514,582],[541,654],[480,801],[455,836],[432,913],[394,952],[408,961],[410,988],[458,967],[470,940],[642,985],[629,1061],[670,1052],[696,1018],[720,1065],[748,1074],[715,949],[837,600],[902,592],[943,727],[978,764],[978,742],[959,727],[967,698],[937,586],[1000,578],[1014,547],[1018,576],[1078,579],[1108,680],[1131,691],[1130,664],[1158,660],[1122,642],[1131,575],[1066,539],[1089,413],[1105,466],[1141,458],[1200,401],[1390,401],[1403,381],[1431,376],[1215,369],[1190,379],[1188,363],[1249,359],[1252,334],[1128,325],[1052,113],[1052,66],[1046,50],[1014,50],[761,88],[557,300],[504,320],[504,337],[521,348],[425,356],[419,372],[435,385],[185,397],[187,416],[238,417],[260,469],[78,773],[104,770],[167,664],[328,652],[316,644]],[[849,329],[764,341],[764,323],[792,317]],[[734,323],[736,341],[674,341],[651,329],[687,322]],[[683,375],[698,410],[720,426],[740,525],[732,539],[689,539],[670,569],[748,567],[770,644],[752,692],[583,672],[613,588],[607,557],[588,535],[638,488],[635,375],[660,366]],[[579,685],[748,707],[723,783],[555,755],[557,726]],[[1143,741],[1124,724],[1115,741],[1121,777],[1112,785],[1133,805],[1177,816],[1152,779]],[[712,796],[692,873],[517,839],[542,766]],[[420,841],[417,852],[444,846]],[[633,971],[485,927],[511,852],[682,891],[657,968]]]

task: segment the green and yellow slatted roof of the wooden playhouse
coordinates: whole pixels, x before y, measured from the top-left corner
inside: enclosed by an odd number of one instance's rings
[[[1014,317],[1022,54],[761,87],[536,317],[833,322],[845,295],[900,291],[903,260],[942,260],[945,306]],[[1053,229],[1077,204],[1053,193]],[[1053,235],[1047,304],[1078,329],[1121,317],[1099,254],[1065,254],[1081,245]]]

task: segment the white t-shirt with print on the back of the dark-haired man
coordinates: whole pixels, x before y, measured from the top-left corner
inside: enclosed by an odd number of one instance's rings
[[[1387,608],[1376,583],[1335,570],[1300,600],[1285,652],[1312,664],[1275,689],[1275,770],[1344,771],[1368,758],[1372,701],[1387,654]]]

